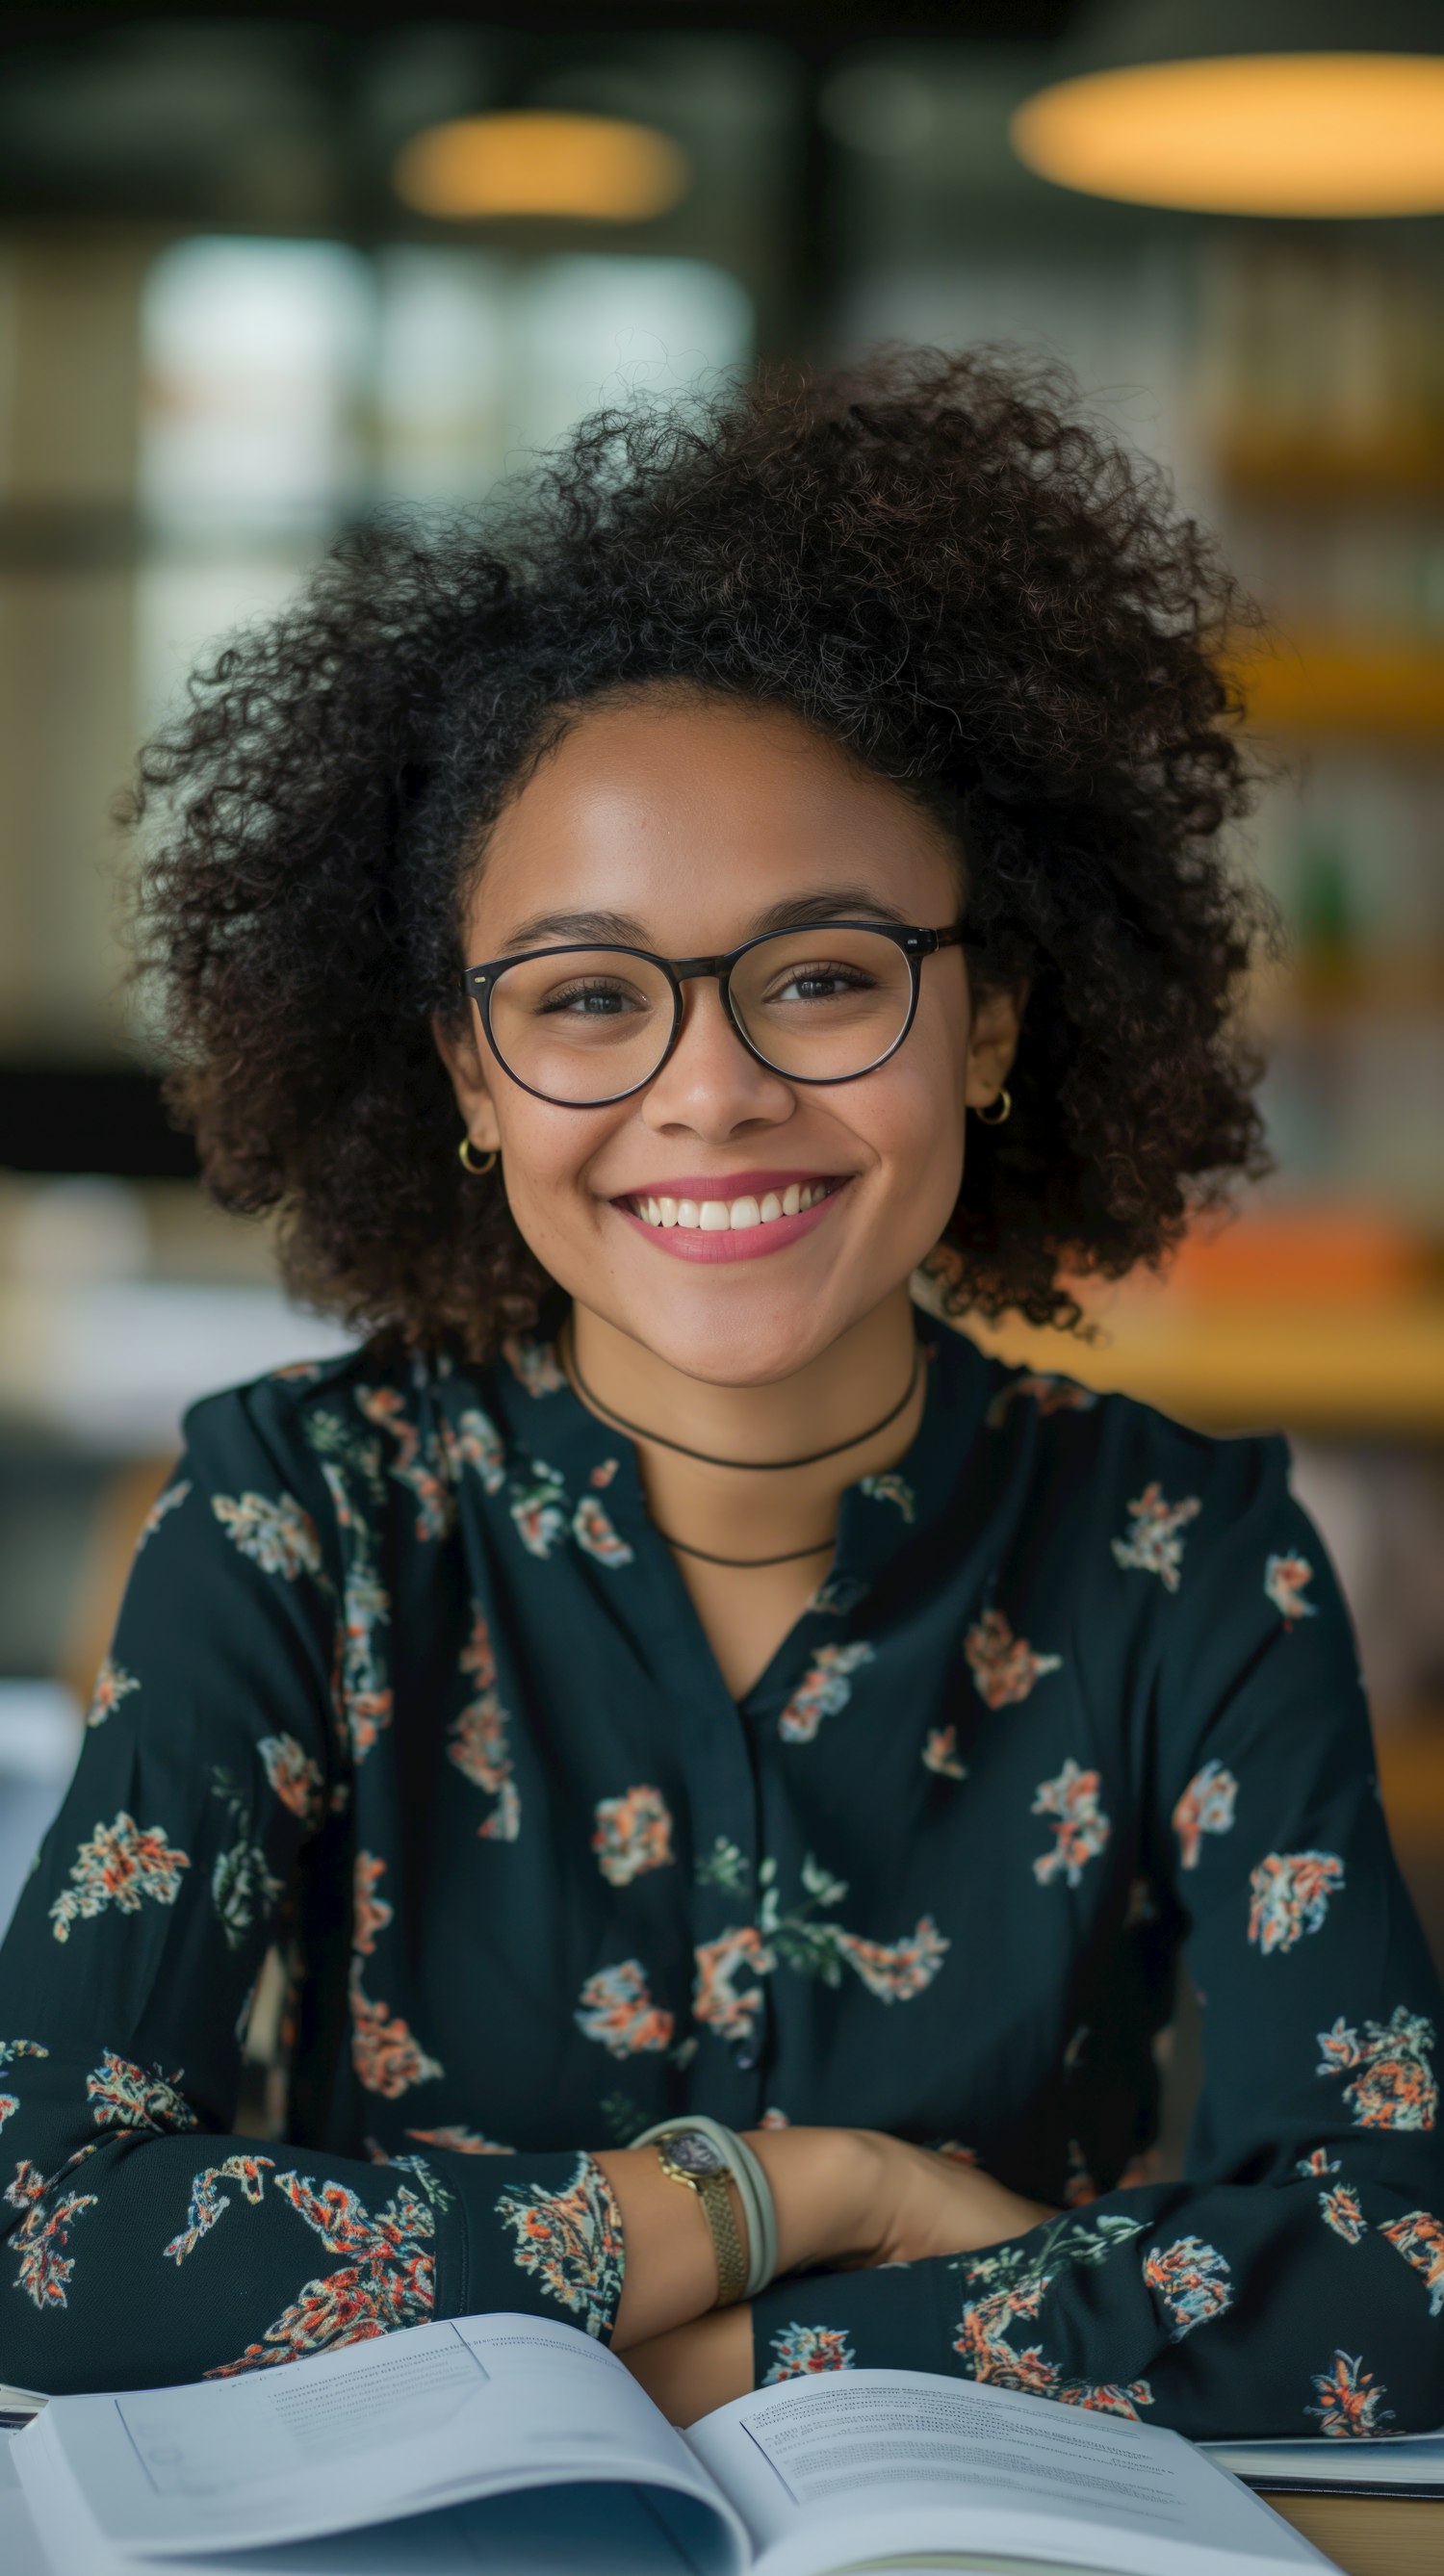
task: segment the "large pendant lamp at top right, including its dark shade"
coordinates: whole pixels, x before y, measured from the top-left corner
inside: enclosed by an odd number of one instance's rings
[[[1436,214],[1444,0],[1104,8],[1009,137],[1040,178],[1135,206]]]

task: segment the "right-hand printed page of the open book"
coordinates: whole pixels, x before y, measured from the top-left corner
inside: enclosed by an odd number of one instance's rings
[[[1328,2566],[1181,2434],[921,2370],[785,2380],[687,2442],[736,2504],[757,2576],[929,2553],[1130,2576]]]

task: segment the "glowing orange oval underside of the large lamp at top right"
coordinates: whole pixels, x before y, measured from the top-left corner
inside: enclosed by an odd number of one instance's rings
[[[1444,209],[1439,54],[1223,54],[1089,72],[1017,108],[1042,178],[1217,214]]]

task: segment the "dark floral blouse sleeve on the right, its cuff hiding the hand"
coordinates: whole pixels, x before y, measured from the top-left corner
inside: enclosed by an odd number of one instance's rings
[[[1184,2179],[976,2254],[780,2282],[754,2303],[759,2380],[952,2370],[1192,2439],[1444,2421],[1444,1991],[1290,1445],[1220,1443],[1215,1479],[1217,1538],[1158,1597],[1145,1685],[1156,1893],[1202,2009]]]

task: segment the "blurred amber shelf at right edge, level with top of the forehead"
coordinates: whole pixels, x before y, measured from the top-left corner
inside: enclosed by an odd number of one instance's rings
[[[1444,639],[1284,636],[1241,641],[1233,677],[1259,734],[1385,734],[1444,747]]]

